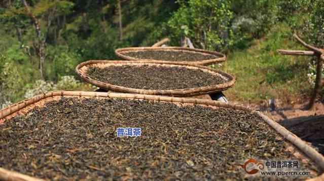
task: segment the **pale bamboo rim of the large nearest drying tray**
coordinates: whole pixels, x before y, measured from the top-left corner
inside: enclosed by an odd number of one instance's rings
[[[223,103],[219,101],[206,100],[206,99],[193,99],[193,98],[179,98],[179,97],[167,97],[167,96],[156,96],[156,95],[143,95],[143,94],[124,94],[124,93],[110,93],[110,92],[82,92],[82,91],[53,91],[47,92],[30,99],[23,100],[21,102],[15,103],[3,110],[0,110],[0,124],[3,124],[5,121],[17,116],[17,115],[26,115],[31,111],[35,106],[44,106],[45,103],[53,100],[59,100],[61,97],[80,97],[80,98],[123,98],[123,99],[137,99],[137,100],[152,100],[152,101],[165,101],[172,102],[178,106],[182,105],[202,105],[212,107],[215,110],[218,107],[230,107],[235,110],[242,110],[248,113],[258,114],[268,125],[275,129],[283,138],[290,141],[288,144],[293,144],[299,150],[293,149],[295,156],[303,159],[308,158],[316,164],[316,166],[321,170],[320,173],[324,171],[324,157],[319,154],[315,149],[310,147],[305,141],[300,139],[295,134],[286,130],[284,127],[279,125],[277,122],[271,120],[261,112],[252,110],[250,108],[232,104],[232,103]],[[301,151],[301,152],[300,152]],[[308,157],[308,158],[307,158]],[[322,180],[324,174],[313,178],[311,180]],[[24,174],[20,174],[14,171],[9,171],[0,167],[0,180],[39,180]]]

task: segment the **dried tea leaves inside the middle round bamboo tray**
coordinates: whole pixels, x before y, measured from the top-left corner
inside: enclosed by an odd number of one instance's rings
[[[100,82],[134,89],[172,90],[219,85],[226,80],[217,74],[182,66],[122,65],[90,67],[87,75]]]

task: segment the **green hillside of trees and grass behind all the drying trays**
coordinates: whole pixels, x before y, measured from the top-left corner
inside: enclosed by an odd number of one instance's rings
[[[276,50],[303,50],[293,33],[324,48],[324,1],[2,0],[0,27],[0,108],[50,90],[96,90],[76,76],[77,64],[165,37],[226,53],[211,67],[236,77],[230,100],[292,104],[311,96],[315,59]]]

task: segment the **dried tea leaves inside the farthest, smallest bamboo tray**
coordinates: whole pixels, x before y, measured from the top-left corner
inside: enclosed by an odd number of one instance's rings
[[[164,51],[146,50],[136,52],[125,52],[123,55],[138,59],[165,60],[165,61],[201,61],[219,58],[212,54],[201,54],[189,51]]]

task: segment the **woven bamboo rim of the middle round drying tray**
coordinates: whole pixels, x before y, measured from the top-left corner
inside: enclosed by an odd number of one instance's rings
[[[228,80],[227,82],[219,85],[212,85],[206,87],[198,87],[198,88],[190,88],[190,89],[174,89],[174,90],[146,90],[146,89],[134,89],[127,88],[123,86],[116,86],[109,83],[100,82],[94,80],[87,76],[87,69],[91,66],[96,67],[106,67],[106,66],[121,66],[121,65],[161,65],[161,66],[185,66],[186,68],[192,69],[200,69],[202,71],[207,71],[211,74],[218,74],[224,80]],[[113,90],[116,92],[124,92],[124,93],[134,93],[134,94],[149,94],[149,95],[167,95],[167,96],[175,96],[175,97],[192,97],[203,94],[210,94],[215,92],[221,92],[226,89],[229,89],[234,86],[235,78],[223,71],[216,70],[213,68],[205,67],[202,65],[188,65],[185,63],[173,63],[168,61],[115,61],[115,60],[90,60],[83,63],[80,63],[76,67],[77,74],[86,82],[93,84],[97,87],[100,87],[105,90]]]

